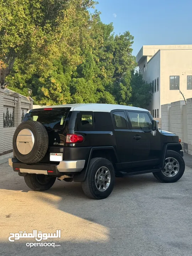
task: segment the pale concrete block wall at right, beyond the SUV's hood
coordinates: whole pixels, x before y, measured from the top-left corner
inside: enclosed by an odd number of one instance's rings
[[[162,129],[175,133],[186,153],[192,155],[192,98],[161,105]]]

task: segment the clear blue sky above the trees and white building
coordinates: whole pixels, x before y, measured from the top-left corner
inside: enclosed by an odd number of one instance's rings
[[[192,0],[97,0],[103,23],[134,36],[133,54],[143,45],[192,44]]]

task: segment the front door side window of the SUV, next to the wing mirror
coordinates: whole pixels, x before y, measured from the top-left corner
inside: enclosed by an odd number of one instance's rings
[[[152,122],[148,113],[128,112],[133,129],[152,130]]]

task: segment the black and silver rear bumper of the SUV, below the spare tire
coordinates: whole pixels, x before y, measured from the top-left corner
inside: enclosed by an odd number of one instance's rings
[[[9,165],[14,171],[29,174],[61,175],[61,173],[73,174],[84,169],[85,160],[60,161],[59,164],[24,164],[16,158],[9,158]]]

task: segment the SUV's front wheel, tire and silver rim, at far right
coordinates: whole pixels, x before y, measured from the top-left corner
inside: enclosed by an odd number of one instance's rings
[[[169,165],[172,166],[169,170]],[[175,166],[175,167],[174,167]],[[177,167],[176,167],[177,166]],[[180,180],[185,171],[185,162],[182,156],[173,150],[167,150],[164,169],[160,172],[153,172],[157,180],[163,183],[172,183]],[[176,174],[175,174],[176,173]]]

